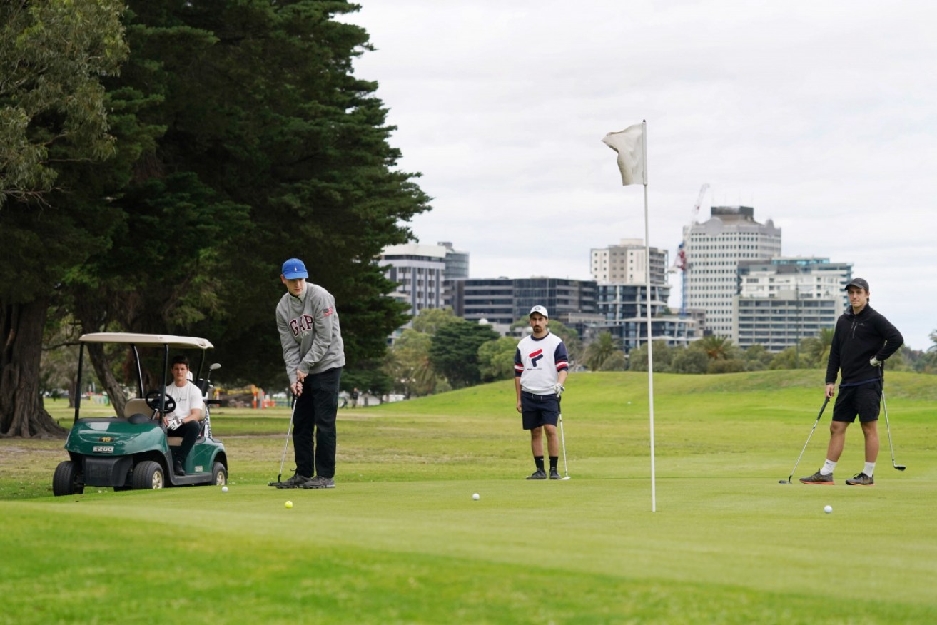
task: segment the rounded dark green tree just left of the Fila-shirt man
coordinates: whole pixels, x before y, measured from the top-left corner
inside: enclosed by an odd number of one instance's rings
[[[429,346],[429,362],[449,380],[454,389],[473,386],[482,379],[478,350],[498,339],[490,326],[456,320],[437,328]]]

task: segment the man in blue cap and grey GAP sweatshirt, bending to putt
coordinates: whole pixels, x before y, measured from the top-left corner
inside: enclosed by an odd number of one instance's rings
[[[335,298],[307,283],[305,263],[283,263],[287,293],[276,305],[276,328],[295,395],[293,450],[296,473],[277,488],[335,488],[335,415],[345,347]],[[313,443],[315,435],[315,443]]]

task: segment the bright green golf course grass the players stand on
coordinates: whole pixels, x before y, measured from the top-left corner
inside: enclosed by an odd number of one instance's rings
[[[322,491],[265,485],[285,410],[213,418],[228,493],[52,498],[62,441],[0,440],[0,622],[937,622],[933,378],[889,373],[907,471],[883,424],[877,484],[845,486],[862,467],[854,426],[837,485],[778,484],[821,377],[655,376],[656,512],[647,374],[571,377],[568,482],[522,479],[511,382],[341,412]],[[822,463],[828,419],[795,481]],[[19,488],[12,448],[39,465],[17,469]]]

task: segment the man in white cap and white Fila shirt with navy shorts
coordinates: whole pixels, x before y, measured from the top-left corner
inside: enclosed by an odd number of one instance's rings
[[[527,479],[546,479],[543,469],[543,433],[546,432],[550,479],[558,480],[559,395],[565,390],[563,382],[569,375],[569,355],[563,340],[547,328],[549,315],[546,308],[534,306],[529,317],[532,333],[521,339],[514,353],[517,411],[521,413],[524,429],[530,430],[530,451],[537,468]]]

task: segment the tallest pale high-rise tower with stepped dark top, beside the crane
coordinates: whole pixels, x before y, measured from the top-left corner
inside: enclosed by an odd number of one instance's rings
[[[686,307],[706,313],[706,332],[732,336],[738,264],[781,256],[781,229],[754,219],[751,206],[713,206],[710,217],[684,229]]]

